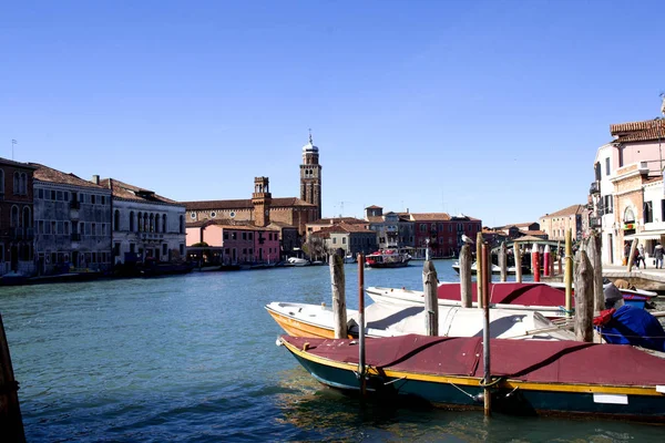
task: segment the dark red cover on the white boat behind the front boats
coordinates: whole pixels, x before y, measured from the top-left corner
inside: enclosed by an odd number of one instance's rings
[[[473,301],[478,301],[478,286],[471,285]],[[440,299],[461,300],[460,284],[441,284],[437,290]],[[574,305],[573,298],[573,305]],[[490,284],[490,302],[524,306],[565,306],[565,292],[545,284]]]

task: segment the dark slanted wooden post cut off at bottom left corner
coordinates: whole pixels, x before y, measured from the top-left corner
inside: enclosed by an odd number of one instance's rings
[[[0,315],[0,432],[3,442],[25,442],[18,390],[19,383],[13,375],[9,344]]]

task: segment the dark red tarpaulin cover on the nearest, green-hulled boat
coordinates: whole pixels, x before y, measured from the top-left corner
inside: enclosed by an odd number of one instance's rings
[[[358,363],[357,340],[282,336],[298,349]],[[367,340],[366,364],[420,374],[483,377],[482,339],[401,336]],[[532,382],[608,385],[665,384],[665,359],[631,346],[577,341],[491,340],[491,373]]]

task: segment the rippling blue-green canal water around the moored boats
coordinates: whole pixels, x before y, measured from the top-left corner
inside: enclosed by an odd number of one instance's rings
[[[436,260],[440,280],[457,280]],[[346,265],[357,307],[357,268]],[[422,261],[366,271],[421,289]],[[326,266],[0,288],[29,442],[643,442],[662,426],[360,404],[285,348],[270,301],[330,303]],[[369,302],[369,301],[368,301]],[[1,439],[0,439],[1,441]]]

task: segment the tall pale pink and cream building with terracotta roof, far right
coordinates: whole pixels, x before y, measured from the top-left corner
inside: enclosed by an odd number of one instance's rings
[[[590,188],[593,216],[589,226],[602,233],[603,262],[621,265],[625,241],[641,238],[651,251],[661,240],[662,204],[653,189],[662,179],[665,123],[647,120],[612,124],[610,133],[613,140],[596,151],[594,159]]]

